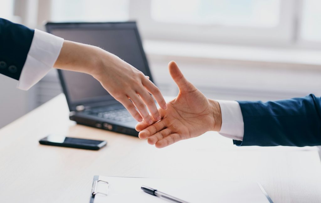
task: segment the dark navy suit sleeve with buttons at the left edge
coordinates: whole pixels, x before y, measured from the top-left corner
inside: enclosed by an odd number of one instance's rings
[[[0,18],[0,74],[19,80],[34,30]]]

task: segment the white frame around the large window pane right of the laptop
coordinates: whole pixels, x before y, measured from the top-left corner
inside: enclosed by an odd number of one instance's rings
[[[151,17],[151,0],[130,1],[130,18],[137,20],[146,39],[197,41],[248,45],[289,45],[293,41],[296,2],[280,1],[280,23],[275,28],[222,25],[193,25],[156,22]]]

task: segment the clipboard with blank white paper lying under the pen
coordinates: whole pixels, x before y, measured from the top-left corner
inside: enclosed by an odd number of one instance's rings
[[[273,203],[258,182],[209,181],[98,176],[93,178],[90,203],[168,201],[140,189],[146,185],[187,202]]]

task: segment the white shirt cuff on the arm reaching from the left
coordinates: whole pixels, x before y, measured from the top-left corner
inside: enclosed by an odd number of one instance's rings
[[[54,66],[63,43],[64,39],[36,29],[17,88],[28,90],[38,83]]]

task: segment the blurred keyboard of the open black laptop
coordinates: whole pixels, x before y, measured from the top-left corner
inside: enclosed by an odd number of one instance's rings
[[[109,120],[115,120],[120,122],[129,122],[134,120],[132,115],[124,109],[124,107],[100,107],[91,109],[91,114],[94,114],[100,118],[105,118]]]

